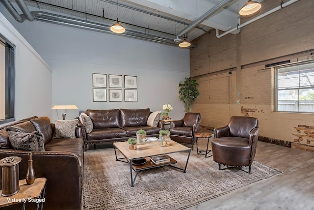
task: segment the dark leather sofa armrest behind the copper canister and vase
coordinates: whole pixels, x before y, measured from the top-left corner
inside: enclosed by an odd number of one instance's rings
[[[28,152],[0,150],[0,159],[7,156],[22,158],[19,163],[20,180],[26,177]],[[36,178],[47,179],[45,209],[80,210],[82,183],[78,156],[71,152],[32,151],[32,159]]]

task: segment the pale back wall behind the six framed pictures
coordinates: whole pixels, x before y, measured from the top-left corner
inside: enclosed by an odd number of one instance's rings
[[[174,107],[171,118],[183,118],[178,86],[189,77],[188,49],[39,21],[18,23],[5,9],[2,12],[51,67],[51,106],[78,106],[66,111],[67,119],[86,109],[157,111],[166,103]],[[93,73],[137,76],[138,101],[93,102]],[[52,118],[57,118],[54,110]]]

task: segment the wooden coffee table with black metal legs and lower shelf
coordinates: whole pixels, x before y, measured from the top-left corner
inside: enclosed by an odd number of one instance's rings
[[[183,173],[185,173],[188,159],[189,159],[190,153],[191,153],[190,148],[185,147],[185,146],[183,146],[177,142],[174,142],[174,141],[170,141],[169,147],[160,147],[159,141],[146,142],[145,145],[137,145],[137,150],[129,150],[128,142],[115,142],[115,143],[113,143],[113,146],[114,146],[114,152],[116,155],[116,160],[130,163],[130,174],[131,174],[131,186],[132,187],[134,187],[134,182],[136,180],[138,172],[142,171],[142,170],[169,165],[169,166],[172,166],[174,168],[180,169],[183,171]],[[124,157],[118,158],[116,150],[119,150]],[[171,153],[183,152],[183,151],[188,152],[184,168],[179,168],[177,166],[172,165],[172,164],[177,163],[177,161],[171,157],[170,157],[170,162],[166,162],[166,163],[154,164],[153,162],[150,161],[151,156],[164,155],[164,154],[168,155]],[[133,165],[132,164],[132,161],[143,159],[143,158],[146,159],[145,164],[142,164],[142,165]],[[123,159],[126,159],[126,161],[123,161]],[[134,179],[133,179],[133,172],[132,171],[135,172]]]

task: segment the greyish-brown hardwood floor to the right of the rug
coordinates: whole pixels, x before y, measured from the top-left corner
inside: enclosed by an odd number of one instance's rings
[[[255,160],[283,173],[186,210],[314,210],[314,153],[259,141]]]

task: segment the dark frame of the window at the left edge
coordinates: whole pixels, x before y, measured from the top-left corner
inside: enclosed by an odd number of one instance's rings
[[[15,48],[8,39],[0,34],[0,44],[5,47],[5,118],[0,124],[15,120]]]

